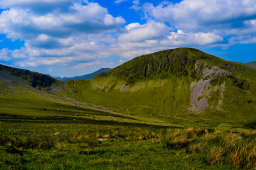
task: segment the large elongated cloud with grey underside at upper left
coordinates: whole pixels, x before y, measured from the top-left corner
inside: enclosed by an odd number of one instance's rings
[[[124,24],[121,16],[111,16],[97,3],[86,6],[74,3],[69,11],[53,11],[38,15],[24,8],[10,8],[0,16],[0,30],[8,38],[26,40],[38,35],[68,37],[78,33],[104,33]]]

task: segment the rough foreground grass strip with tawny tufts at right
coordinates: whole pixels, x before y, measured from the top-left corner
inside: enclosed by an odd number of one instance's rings
[[[0,169],[256,167],[256,132],[252,130],[237,133],[32,121],[1,123],[0,132]]]

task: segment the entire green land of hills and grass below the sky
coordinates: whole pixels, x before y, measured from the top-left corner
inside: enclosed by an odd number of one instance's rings
[[[0,65],[0,169],[256,169],[256,69],[196,49],[90,80]]]

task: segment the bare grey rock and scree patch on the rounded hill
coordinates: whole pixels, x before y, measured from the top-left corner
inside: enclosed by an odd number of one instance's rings
[[[203,69],[202,69],[203,68]],[[193,81],[191,83],[191,107],[188,110],[194,113],[200,113],[209,106],[207,98],[210,92],[220,93],[218,106],[216,109],[221,110],[223,91],[225,90],[225,83],[220,86],[211,86],[210,81],[218,79],[222,76],[230,75],[230,72],[220,69],[220,67],[209,67],[205,62],[197,61],[195,64],[196,73],[201,75],[199,81]]]

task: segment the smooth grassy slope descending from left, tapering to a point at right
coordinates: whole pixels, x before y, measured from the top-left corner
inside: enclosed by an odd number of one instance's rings
[[[106,108],[61,98],[27,86],[0,80],[0,119],[4,122],[164,125],[154,119],[114,113]]]

